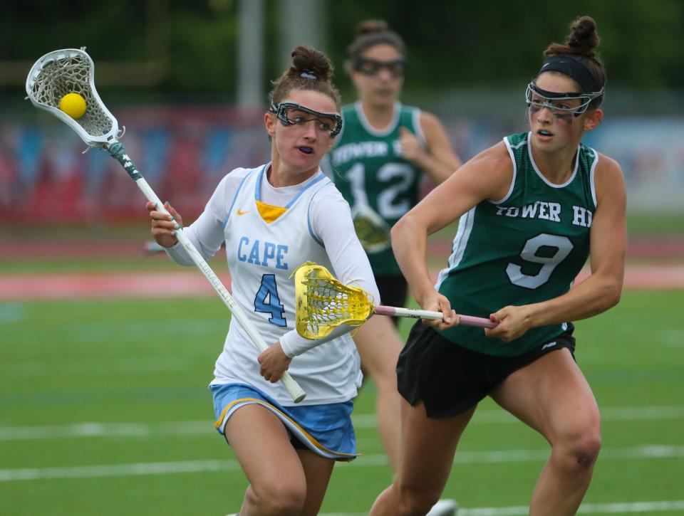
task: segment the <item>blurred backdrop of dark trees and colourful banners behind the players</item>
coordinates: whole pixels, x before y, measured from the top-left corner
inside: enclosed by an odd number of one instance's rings
[[[582,14],[598,23],[608,70],[605,117],[585,143],[623,167],[630,211],[684,216],[684,2],[576,0],[527,9],[503,0],[73,4],[68,10],[43,0],[4,4],[4,223],[141,216],[142,196],[118,163],[96,149],[82,154],[75,133],[23,100],[26,73],[48,51],[88,46],[98,92],[128,129],[123,142],[130,157],[162,199],[192,218],[224,174],[268,161],[262,120],[269,79],[296,44],[328,53],[343,101],[353,102],[346,46],[360,21],[387,20],[407,44],[403,102],[440,117],[467,159],[526,130],[525,85],[544,48],[563,41]]]

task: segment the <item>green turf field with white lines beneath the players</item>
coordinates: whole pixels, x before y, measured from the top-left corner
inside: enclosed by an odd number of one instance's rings
[[[578,324],[577,359],[603,412],[586,514],[684,511],[683,301],[626,292]],[[217,298],[1,304],[0,514],[239,510],[246,481],[212,429],[206,388],[227,325]],[[373,403],[368,384],[355,409],[365,455],[336,466],[322,512],[363,514],[390,482]],[[520,514],[474,508],[527,505],[547,454],[536,433],[484,402],[445,496],[465,516]],[[636,512],[634,502],[651,505]]]

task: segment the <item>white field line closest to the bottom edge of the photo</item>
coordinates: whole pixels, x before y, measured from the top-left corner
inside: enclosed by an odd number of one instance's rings
[[[579,508],[578,514],[628,514],[641,512],[672,511],[684,509],[684,500],[670,502],[624,502],[624,503],[585,503]],[[321,512],[319,516],[365,516],[368,512]],[[458,510],[458,516],[527,516],[529,507],[476,507]]]

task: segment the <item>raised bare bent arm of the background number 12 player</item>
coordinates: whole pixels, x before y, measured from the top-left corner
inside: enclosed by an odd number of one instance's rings
[[[420,112],[420,128],[425,135],[426,147],[413,133],[401,128],[404,157],[424,170],[432,182],[440,184],[462,165],[462,161],[452,149],[444,126],[435,115]]]

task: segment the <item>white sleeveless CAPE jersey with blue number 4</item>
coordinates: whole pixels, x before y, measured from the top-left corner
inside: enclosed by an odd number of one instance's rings
[[[307,260],[332,270],[323,243],[311,231],[309,205],[323,189],[326,194],[329,189],[339,193],[318,171],[287,206],[269,206],[260,199],[267,167],[231,173],[242,179],[224,221],[224,236],[232,295],[270,345],[295,327],[293,271]],[[233,319],[212,384],[251,384],[280,404],[292,405],[281,382],[271,384],[261,377],[258,355],[247,333]],[[307,393],[305,405],[348,401],[356,396],[361,382],[358,352],[348,334],[294,357],[289,372]]]

